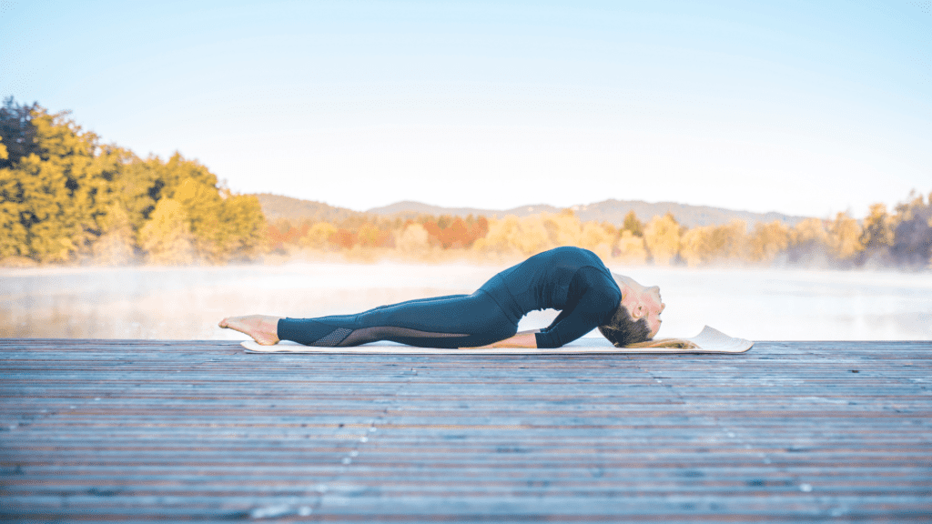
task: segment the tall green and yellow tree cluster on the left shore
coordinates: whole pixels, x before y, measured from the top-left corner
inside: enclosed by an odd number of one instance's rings
[[[223,263],[265,252],[267,224],[192,159],[141,159],[68,112],[0,107],[0,259],[6,265]]]

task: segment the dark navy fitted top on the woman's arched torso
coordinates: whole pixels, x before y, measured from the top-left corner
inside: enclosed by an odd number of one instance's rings
[[[622,301],[622,291],[602,260],[578,247],[531,256],[499,276],[516,313],[560,310],[553,324],[537,333],[538,348],[558,348],[608,323]]]

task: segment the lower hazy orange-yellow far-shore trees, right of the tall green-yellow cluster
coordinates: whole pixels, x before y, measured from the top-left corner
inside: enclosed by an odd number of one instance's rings
[[[470,256],[520,259],[561,245],[590,249],[624,264],[694,267],[797,266],[806,268],[924,269],[932,263],[932,195],[912,193],[893,213],[874,204],[857,220],[847,213],[807,218],[788,226],[779,221],[748,228],[743,221],[686,228],[672,214],[647,222],[634,212],[624,224],[583,222],[570,210],[558,214],[484,216],[422,215],[388,219],[371,215],[331,224],[281,218],[269,225],[273,253],[407,255],[421,259]],[[444,256],[445,255],[445,256]]]

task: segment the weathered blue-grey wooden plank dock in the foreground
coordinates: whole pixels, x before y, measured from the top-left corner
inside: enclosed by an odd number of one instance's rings
[[[0,520],[932,521],[932,343],[0,339]]]

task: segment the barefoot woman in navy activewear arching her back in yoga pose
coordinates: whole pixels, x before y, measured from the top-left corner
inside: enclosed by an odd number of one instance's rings
[[[347,347],[391,340],[424,348],[558,348],[597,327],[615,346],[624,347],[653,338],[664,308],[659,287],[610,272],[591,251],[558,247],[501,271],[473,295],[311,319],[228,317],[219,325],[263,345],[293,340]],[[522,316],[544,309],[561,312],[545,329],[517,333]]]

